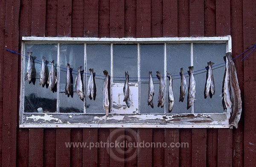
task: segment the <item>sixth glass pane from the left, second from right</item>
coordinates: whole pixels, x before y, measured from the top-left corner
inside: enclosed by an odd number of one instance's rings
[[[191,113],[191,108],[187,110],[187,93],[189,89],[189,77],[187,71],[190,66],[190,44],[167,44],[166,45],[167,56],[167,71],[173,77],[172,91],[175,97],[174,106],[171,113]],[[183,68],[183,73],[186,77],[187,91],[183,102],[180,100],[180,68]],[[166,104],[168,104],[168,89],[169,79],[167,79],[167,92],[166,92]],[[169,105],[169,104],[168,104]],[[169,111],[167,110],[167,113]]]

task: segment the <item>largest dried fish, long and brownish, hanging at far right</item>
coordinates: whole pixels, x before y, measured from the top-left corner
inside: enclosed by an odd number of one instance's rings
[[[232,113],[230,114],[229,124],[237,128],[242,112],[241,91],[238,84],[235,63],[232,59],[232,53],[228,52],[226,56],[230,66],[230,90],[232,95]]]

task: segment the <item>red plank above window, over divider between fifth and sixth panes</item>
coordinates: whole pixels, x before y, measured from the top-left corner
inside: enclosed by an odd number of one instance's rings
[[[178,0],[163,0],[163,37],[178,36]]]

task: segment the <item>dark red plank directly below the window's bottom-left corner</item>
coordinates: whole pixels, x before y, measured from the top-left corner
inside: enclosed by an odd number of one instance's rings
[[[17,132],[17,167],[29,166],[29,130],[19,129]]]

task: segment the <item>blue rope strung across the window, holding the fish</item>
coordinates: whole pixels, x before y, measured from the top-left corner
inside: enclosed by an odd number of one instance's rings
[[[240,57],[242,54],[244,54],[245,52],[249,51],[251,48],[253,48],[253,49],[252,49],[243,59],[241,59],[241,61],[243,61],[246,57],[248,57],[248,56],[253,52],[253,50],[256,48],[256,44],[255,44],[255,45],[252,45],[250,48],[248,48],[247,50],[245,50],[243,53],[241,53],[241,54],[239,54],[238,56],[236,56],[235,58],[233,58],[233,60],[236,59],[236,58],[238,58],[238,57]],[[24,57],[28,57],[28,56],[26,56],[26,55],[17,53],[16,51],[12,51],[12,50],[10,50],[10,49],[8,49],[8,48],[6,48],[6,51],[10,51],[10,52],[12,52],[12,53],[19,54],[19,55],[24,56]],[[29,58],[29,57],[28,57],[28,58]],[[32,59],[32,58],[31,58],[31,59]],[[38,60],[38,59],[32,59],[32,60],[36,60],[36,61],[38,61],[38,62],[42,62],[41,60]],[[216,66],[222,65],[222,64],[226,64],[226,62],[217,64],[217,65],[212,65],[212,67],[216,67]],[[67,70],[67,68],[60,67],[60,66],[58,66],[58,65],[54,65],[54,66]],[[208,68],[209,68],[209,67],[203,68],[203,69],[201,69],[201,70],[193,71],[193,73],[198,72],[198,71],[203,71],[203,70],[208,69]],[[71,71],[78,72],[78,71],[73,70],[73,69],[71,69]],[[85,72],[81,72],[81,73],[90,75],[90,73],[85,73]],[[184,73],[184,75],[185,75],[185,74],[189,74],[189,73]],[[94,76],[105,77],[105,76],[102,76],[102,75],[96,75],[96,74],[93,74],[93,75],[94,75]],[[173,76],[180,76],[180,74],[178,74],[178,75],[173,75]],[[172,76],[172,77],[173,77],[173,76]],[[123,79],[126,78],[126,77],[120,77],[120,76],[110,76],[110,77],[111,77],[111,78],[123,78]],[[163,76],[163,77],[167,77],[167,76]],[[130,79],[138,79],[138,78],[148,79],[149,77],[129,77],[129,78],[130,78]],[[158,78],[158,77],[152,77],[152,78]]]

